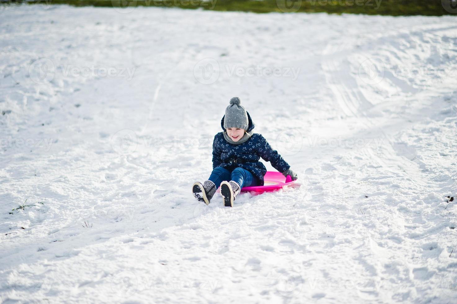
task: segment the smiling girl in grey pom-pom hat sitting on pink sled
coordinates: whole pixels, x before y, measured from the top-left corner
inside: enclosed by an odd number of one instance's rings
[[[196,182],[192,186],[192,192],[200,202],[209,204],[220,185],[224,205],[233,207],[233,201],[241,188],[263,186],[266,168],[259,161],[260,157],[270,161],[273,168],[284,176],[290,175],[293,181],[298,178],[262,135],[252,133],[255,125],[240,103],[238,97],[230,99],[221,121],[224,132],[214,136],[211,176],[207,181]]]

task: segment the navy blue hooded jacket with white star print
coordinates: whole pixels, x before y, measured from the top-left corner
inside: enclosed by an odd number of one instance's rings
[[[247,114],[249,121],[247,131],[250,132],[254,129],[255,124],[252,122],[249,113]],[[222,117],[221,127],[225,132],[224,117]],[[263,186],[266,167],[259,161],[260,157],[265,161],[270,161],[271,166],[279,172],[284,172],[290,168],[289,164],[276,150],[271,148],[262,135],[253,133],[251,138],[243,144],[230,144],[225,140],[224,132],[219,132],[214,136],[213,169],[216,167],[223,167],[229,171],[233,171],[236,167],[246,169],[257,178],[257,185]],[[235,160],[237,161],[235,162]],[[243,162],[239,162],[239,160]]]

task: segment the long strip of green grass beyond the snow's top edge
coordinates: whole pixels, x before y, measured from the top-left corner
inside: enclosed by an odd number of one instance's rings
[[[0,0],[11,2],[12,0]],[[442,2],[443,1],[443,2]],[[74,6],[128,7],[160,6],[213,11],[326,12],[390,16],[456,15],[455,0],[29,0],[27,3],[69,4]],[[446,1],[449,1],[447,4]],[[16,1],[20,2],[20,1]],[[443,4],[444,3],[444,4]],[[446,8],[444,7],[446,6]]]

